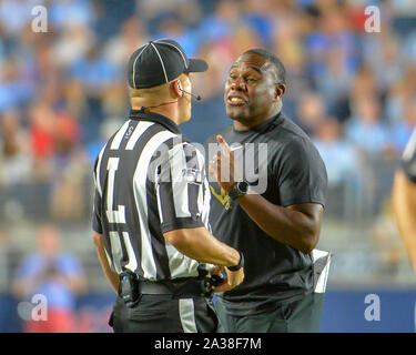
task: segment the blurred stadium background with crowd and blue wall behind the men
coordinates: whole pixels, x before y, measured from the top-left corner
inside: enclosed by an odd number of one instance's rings
[[[31,29],[39,4],[47,33]],[[381,9],[381,33],[364,31],[369,4]],[[390,209],[416,124],[413,0],[1,0],[0,332],[21,329],[12,285],[44,223],[58,226],[87,278],[78,331],[109,331],[114,295],[91,242],[91,171],[129,111],[126,59],[155,38],[210,64],[194,77],[203,101],[183,125],[201,143],[230,124],[222,95],[232,61],[257,47],[281,58],[283,110],[312,136],[329,176],[318,247],[334,258],[321,329],[415,332],[416,278]],[[379,296],[379,322],[364,317],[367,294]]]

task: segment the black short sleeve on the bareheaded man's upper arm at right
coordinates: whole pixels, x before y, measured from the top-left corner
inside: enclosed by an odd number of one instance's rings
[[[275,176],[283,206],[319,203],[325,207],[326,168],[312,142],[303,138],[288,142],[276,161]]]

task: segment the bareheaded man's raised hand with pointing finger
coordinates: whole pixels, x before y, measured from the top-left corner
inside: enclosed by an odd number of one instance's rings
[[[221,153],[214,155],[210,162],[209,173],[214,175],[220,186],[229,193],[234,189],[236,181],[241,180],[242,171],[234,158],[234,152],[221,134],[216,135]]]

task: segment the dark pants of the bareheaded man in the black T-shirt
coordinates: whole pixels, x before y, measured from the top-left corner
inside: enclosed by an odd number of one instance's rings
[[[220,300],[215,310],[227,333],[317,333],[323,304],[323,293],[311,293],[257,315],[230,315]]]

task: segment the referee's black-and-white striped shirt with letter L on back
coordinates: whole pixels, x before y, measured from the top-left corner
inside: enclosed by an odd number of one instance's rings
[[[200,263],[163,236],[211,230],[204,156],[182,141],[173,121],[132,110],[101,150],[94,183],[93,230],[104,235],[113,271],[129,268],[150,281],[197,276]]]

